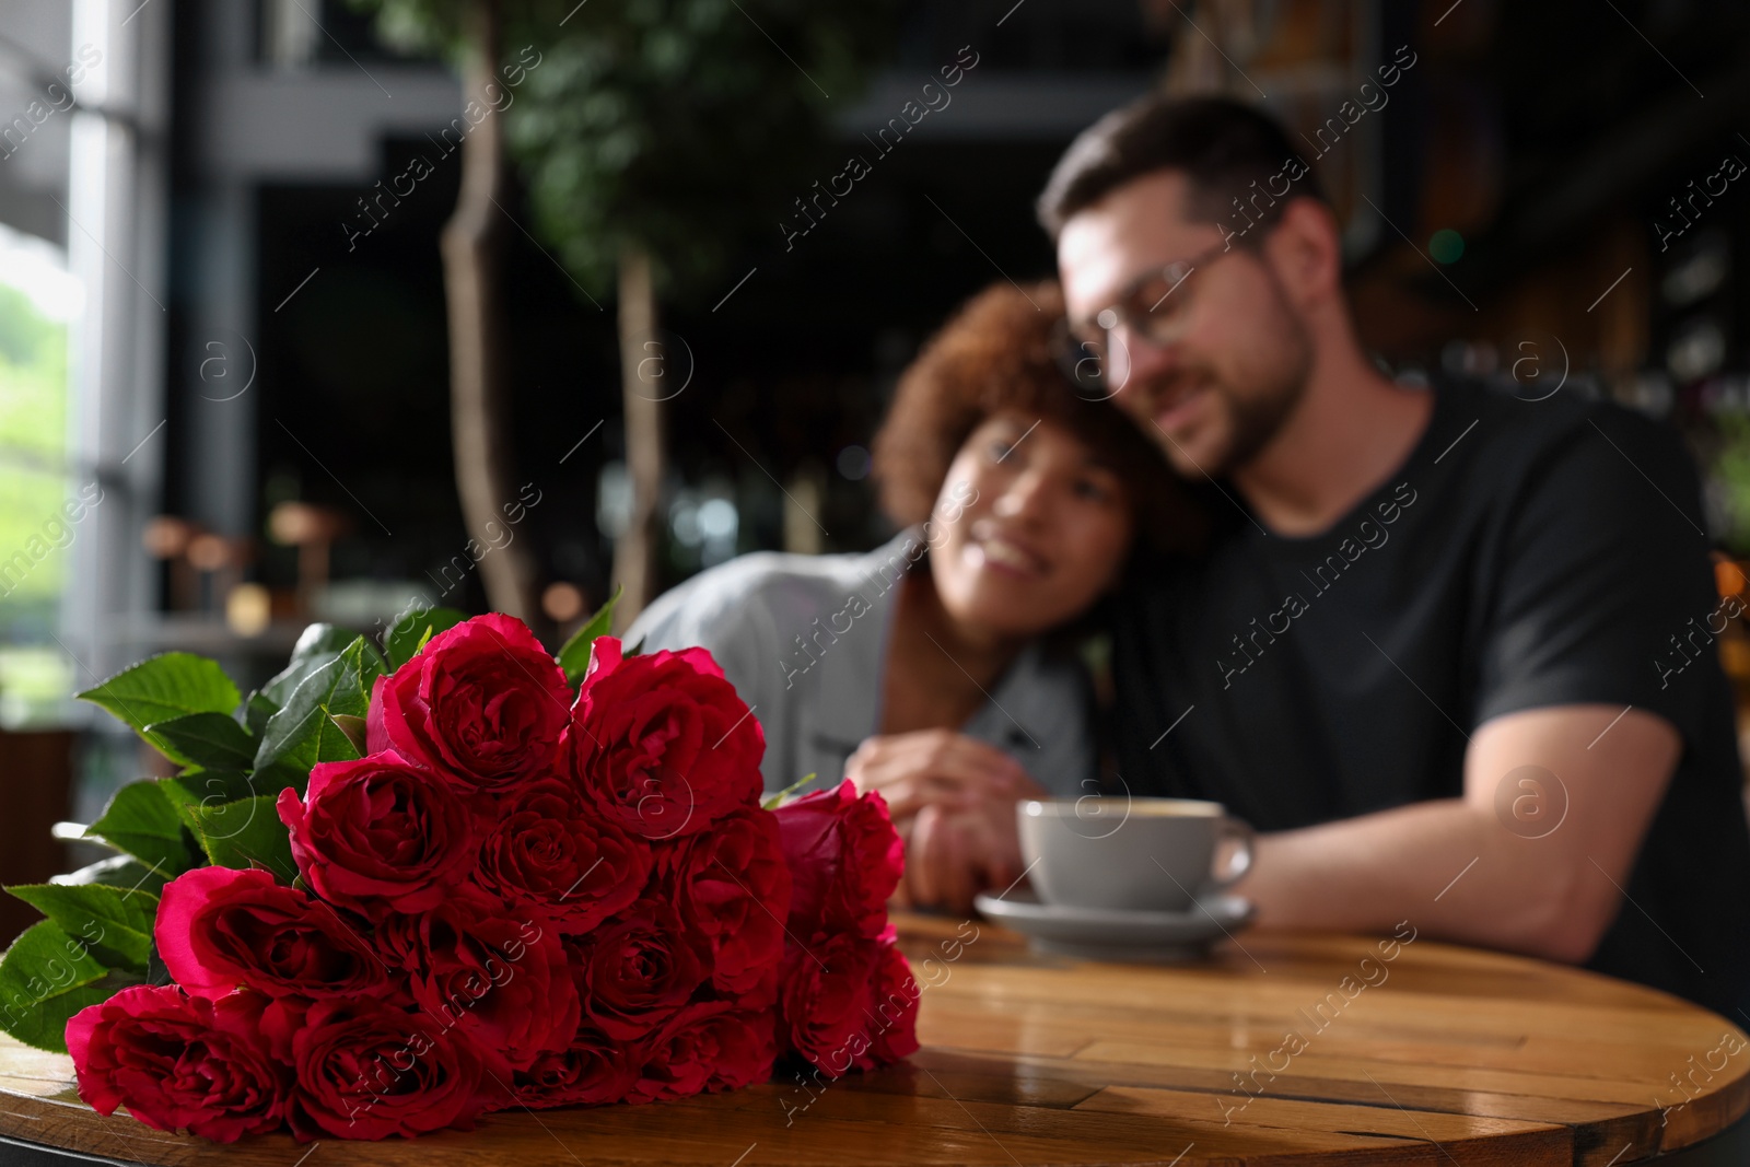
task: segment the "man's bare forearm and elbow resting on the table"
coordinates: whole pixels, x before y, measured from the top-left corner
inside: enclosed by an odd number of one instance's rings
[[[1264,927],[1407,919],[1442,940],[1582,962],[1619,908],[1636,910],[1622,889],[1680,751],[1671,723],[1640,709],[1505,714],[1472,737],[1463,798],[1260,836],[1236,891]]]

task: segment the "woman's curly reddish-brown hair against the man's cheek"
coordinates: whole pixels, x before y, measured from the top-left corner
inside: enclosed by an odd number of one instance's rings
[[[1054,334],[1062,315],[1054,280],[992,283],[924,345],[875,434],[882,509],[896,523],[928,520],[971,432],[1013,409],[1064,427],[1118,476],[1139,551],[1197,546],[1206,521],[1155,444],[1110,401],[1080,395],[1059,367]]]

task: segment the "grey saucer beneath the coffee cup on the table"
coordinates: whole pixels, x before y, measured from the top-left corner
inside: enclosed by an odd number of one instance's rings
[[[1250,899],[1223,894],[1206,896],[1185,912],[1068,908],[1040,903],[1031,891],[1001,899],[984,892],[973,903],[1040,952],[1088,961],[1200,961],[1211,943],[1244,929],[1255,912]]]

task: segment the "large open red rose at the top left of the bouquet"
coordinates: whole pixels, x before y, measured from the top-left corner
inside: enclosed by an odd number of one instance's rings
[[[570,717],[565,670],[513,616],[476,616],[371,693],[371,752],[394,749],[457,793],[504,793],[553,766]]]

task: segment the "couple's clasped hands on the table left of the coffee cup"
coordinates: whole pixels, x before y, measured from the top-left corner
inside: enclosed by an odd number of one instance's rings
[[[887,800],[905,840],[901,896],[959,912],[980,891],[1018,877],[1015,803],[1046,796],[1013,758],[948,730],[872,737],[845,777]]]

